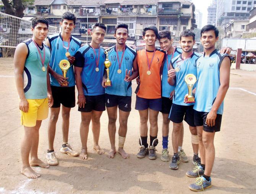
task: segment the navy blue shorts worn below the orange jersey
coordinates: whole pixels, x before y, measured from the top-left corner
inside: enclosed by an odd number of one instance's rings
[[[148,108],[154,111],[161,111],[162,98],[147,99],[147,98],[140,98],[139,96],[136,96],[135,109],[138,111],[143,111]]]

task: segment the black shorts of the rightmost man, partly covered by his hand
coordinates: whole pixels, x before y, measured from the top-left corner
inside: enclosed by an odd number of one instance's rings
[[[194,110],[194,123],[196,126],[202,126],[203,125],[203,130],[206,132],[211,132],[213,133],[220,131],[220,125],[221,125],[221,119],[222,119],[222,115],[221,114],[217,114],[217,117],[215,119],[215,125],[214,126],[208,126],[206,124],[206,117],[208,115],[209,112],[199,112]]]

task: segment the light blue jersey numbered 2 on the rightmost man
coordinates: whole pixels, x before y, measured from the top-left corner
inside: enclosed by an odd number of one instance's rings
[[[227,54],[220,54],[215,49],[209,57],[204,55],[196,60],[197,86],[194,109],[199,112],[210,112],[220,87],[220,64]],[[217,114],[223,114],[224,102]]]

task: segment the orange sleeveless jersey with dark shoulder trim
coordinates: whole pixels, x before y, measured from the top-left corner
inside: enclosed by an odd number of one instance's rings
[[[156,48],[156,53],[149,69],[151,74],[147,75],[147,57],[150,63],[153,53],[154,51],[147,51],[146,56],[145,47],[137,48],[137,63],[139,66],[139,79],[141,81],[137,95],[140,98],[161,98],[160,68],[162,62],[164,61],[165,52],[159,48]]]

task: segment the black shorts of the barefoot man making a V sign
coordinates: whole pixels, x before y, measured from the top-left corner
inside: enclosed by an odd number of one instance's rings
[[[121,111],[131,111],[131,96],[105,94],[106,107],[117,106]]]

